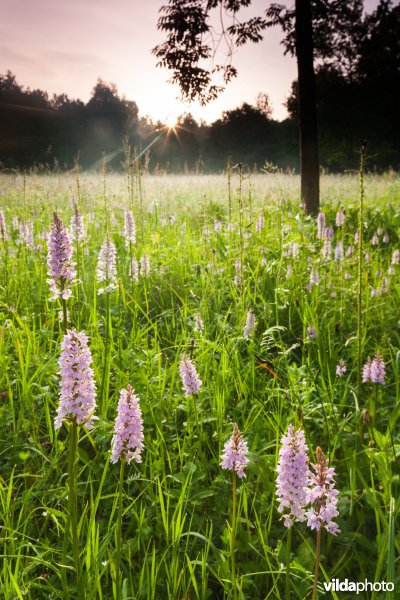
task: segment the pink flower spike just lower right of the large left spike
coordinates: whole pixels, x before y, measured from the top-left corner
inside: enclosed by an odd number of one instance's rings
[[[121,390],[118,401],[111,462],[116,463],[121,458],[125,458],[128,465],[131,460],[142,462],[140,455],[143,450],[143,439],[143,420],[139,398],[135,395],[132,386],[128,385],[126,390]]]

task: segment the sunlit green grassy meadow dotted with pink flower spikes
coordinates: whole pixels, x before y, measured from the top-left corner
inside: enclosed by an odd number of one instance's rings
[[[323,176],[318,219],[298,189],[236,171],[1,175],[1,598],[311,598],[316,531],[278,511],[290,424],[336,472],[340,532],[322,530],[317,597],[356,597],[324,586],[346,578],[393,584],[357,597],[399,597],[400,178],[367,175],[360,191],[357,173]],[[54,211],[76,271],[64,299],[48,282]],[[105,239],[116,273],[102,282]],[[95,420],[55,429],[75,329]],[[141,462],[113,463],[129,385]],[[221,468],[235,423],[245,477]]]

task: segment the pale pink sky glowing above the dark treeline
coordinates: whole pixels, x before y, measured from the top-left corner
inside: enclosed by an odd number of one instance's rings
[[[66,93],[84,102],[98,78],[115,83],[120,96],[134,100],[140,116],[172,122],[191,112],[210,123],[224,110],[254,104],[267,93],[273,117],[285,118],[284,102],[296,78],[296,62],[283,55],[279,28],[259,44],[235,51],[238,77],[206,107],[177,100],[171,73],[156,68],[151,49],[165,39],[157,30],[159,8],[167,0],[0,0],[0,73],[10,69],[31,89]],[[285,0],[282,1],[285,3]],[[366,0],[367,10],[378,0]],[[267,0],[253,0],[244,17],[261,15]],[[222,58],[222,57],[221,57]]]

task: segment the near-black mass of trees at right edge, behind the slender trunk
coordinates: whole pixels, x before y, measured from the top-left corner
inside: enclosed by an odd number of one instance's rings
[[[321,162],[336,171],[357,168],[360,140],[368,139],[371,167],[398,168],[400,4],[381,0],[362,15],[359,2],[346,3],[340,26],[341,54],[324,58],[316,70]],[[328,45],[325,37],[317,56]],[[297,82],[286,106],[298,120]]]

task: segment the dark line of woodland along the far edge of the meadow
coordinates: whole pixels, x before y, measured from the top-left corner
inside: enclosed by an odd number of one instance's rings
[[[400,7],[381,3],[368,27],[352,38],[350,55],[317,65],[321,167],[355,168],[361,140],[368,141],[369,168],[400,169]],[[266,77],[267,79],[267,77]],[[178,137],[166,130],[142,155],[149,172],[219,172],[228,157],[251,170],[298,169],[297,87],[288,90],[289,117],[272,118],[267,93],[207,125],[190,114],[179,119]],[[98,80],[87,103],[31,90],[8,71],[0,75],[2,170],[122,170],[126,149],[138,156],[163,131],[141,117],[146,107],[121,97]]]

